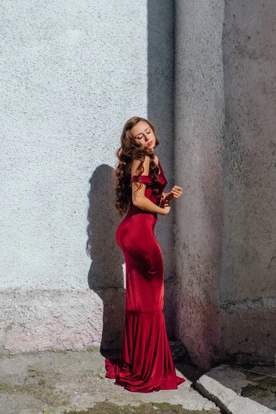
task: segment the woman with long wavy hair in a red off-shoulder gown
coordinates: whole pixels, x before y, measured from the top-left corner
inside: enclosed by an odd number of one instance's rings
[[[128,391],[151,393],[176,389],[177,377],[164,319],[164,264],[154,229],[157,214],[170,212],[170,201],[182,193],[167,180],[154,148],[154,126],[144,118],[129,119],[117,150],[115,207],[128,210],[117,228],[117,244],[126,262],[126,309],[119,358],[105,359],[106,377]]]

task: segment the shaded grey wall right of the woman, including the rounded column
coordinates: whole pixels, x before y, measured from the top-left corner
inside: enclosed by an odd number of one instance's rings
[[[276,3],[176,8],[176,334],[206,368],[273,364]]]

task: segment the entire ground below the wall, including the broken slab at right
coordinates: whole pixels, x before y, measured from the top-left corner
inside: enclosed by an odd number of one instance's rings
[[[132,393],[105,377],[104,359],[116,356],[118,353],[103,355],[97,348],[83,352],[3,355],[0,357],[0,414],[111,413],[103,408],[93,411],[101,402],[120,407],[129,405],[132,411],[126,410],[127,413],[138,413],[135,407],[142,404],[151,404],[155,410],[145,408],[139,413],[269,414],[276,411],[275,367],[222,364],[206,373],[184,359],[175,362],[177,375],[186,379],[177,390]],[[166,410],[159,411],[154,406],[158,403],[166,403]],[[176,404],[181,409],[173,408]],[[119,412],[122,411],[116,411]]]

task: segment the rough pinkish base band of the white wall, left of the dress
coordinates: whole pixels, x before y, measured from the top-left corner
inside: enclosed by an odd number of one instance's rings
[[[121,347],[124,288],[0,293],[0,355]]]

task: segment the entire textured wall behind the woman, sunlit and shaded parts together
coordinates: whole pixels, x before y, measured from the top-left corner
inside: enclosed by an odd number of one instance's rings
[[[1,4],[0,354],[121,346],[113,172],[140,115],[166,190],[184,189],[155,232],[168,335],[206,368],[273,360],[275,16],[273,0]]]

